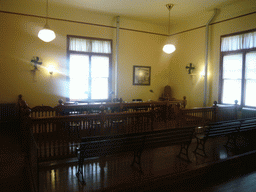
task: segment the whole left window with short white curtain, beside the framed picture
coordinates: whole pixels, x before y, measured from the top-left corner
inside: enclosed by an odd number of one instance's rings
[[[69,101],[107,101],[112,41],[68,36]]]

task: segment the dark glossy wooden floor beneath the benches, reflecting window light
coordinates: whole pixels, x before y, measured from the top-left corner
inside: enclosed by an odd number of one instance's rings
[[[87,160],[86,184],[76,177],[77,162],[40,163],[40,192],[64,191],[256,191],[256,147],[245,137],[238,149],[225,147],[226,137],[209,139],[208,157],[195,155],[191,163],[176,157],[179,146],[144,151],[142,173],[131,167],[132,153]]]

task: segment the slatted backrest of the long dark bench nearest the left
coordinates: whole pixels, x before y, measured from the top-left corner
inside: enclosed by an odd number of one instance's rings
[[[83,157],[104,156],[119,152],[157,148],[181,143],[190,144],[194,127],[176,128],[143,133],[84,137],[80,144]]]

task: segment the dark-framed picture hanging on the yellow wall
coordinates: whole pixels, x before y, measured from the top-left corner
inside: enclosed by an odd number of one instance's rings
[[[133,66],[133,85],[150,85],[151,67]]]

